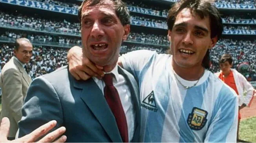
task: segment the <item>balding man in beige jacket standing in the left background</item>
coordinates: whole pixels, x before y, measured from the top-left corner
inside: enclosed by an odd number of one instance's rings
[[[7,62],[0,75],[2,89],[2,111],[0,119],[8,117],[11,123],[8,139],[14,139],[18,121],[22,117],[21,108],[31,83],[26,72],[26,64],[32,56],[33,46],[27,38],[19,38],[14,43],[14,56]]]

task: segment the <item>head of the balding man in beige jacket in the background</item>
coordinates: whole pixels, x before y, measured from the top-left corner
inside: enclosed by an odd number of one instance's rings
[[[18,50],[14,50],[14,55],[20,62],[29,63],[32,56],[33,46],[30,42],[25,40],[21,40],[19,43],[20,47]]]

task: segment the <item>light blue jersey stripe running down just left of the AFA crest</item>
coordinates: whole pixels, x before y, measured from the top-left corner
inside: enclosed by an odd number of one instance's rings
[[[203,104],[203,96],[208,87],[209,78],[201,85],[193,87],[187,90],[187,94],[183,101],[183,108],[181,111],[181,116],[179,119],[179,134],[180,139],[179,142],[195,142],[193,130],[190,129],[187,123],[188,114],[192,112],[193,107],[197,107],[201,109]]]

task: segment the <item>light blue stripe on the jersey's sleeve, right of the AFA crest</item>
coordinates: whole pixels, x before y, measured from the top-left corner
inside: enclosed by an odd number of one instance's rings
[[[234,104],[235,102],[232,100],[236,100],[236,98],[232,98],[232,91],[229,89],[229,87],[223,85],[219,92],[218,98],[216,99],[216,102],[214,104],[214,109],[219,109],[220,107],[221,109],[214,110],[213,114],[217,114],[217,118],[225,118],[225,120],[222,120],[221,123],[218,123],[218,126],[213,126],[212,130],[214,130],[214,132],[210,134],[207,142],[226,142],[228,133],[230,131],[230,127],[232,127],[232,124],[234,123],[234,118],[238,118],[238,116],[234,117],[234,115],[236,114],[234,110],[236,108],[236,104]],[[220,105],[220,102],[222,103],[222,105]],[[229,116],[227,117],[227,115]],[[212,115],[212,117],[214,117],[214,115]],[[212,120],[213,118],[211,118],[210,123],[212,123]]]

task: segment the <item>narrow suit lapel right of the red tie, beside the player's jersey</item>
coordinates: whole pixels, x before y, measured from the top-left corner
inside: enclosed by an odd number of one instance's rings
[[[131,77],[129,78],[127,75],[129,73],[127,71],[124,71],[121,67],[118,67],[118,73],[122,74],[124,76],[124,78],[127,81],[127,85],[130,89],[130,92],[131,92],[131,98],[132,98],[132,102],[133,102],[132,104],[133,104],[133,108],[135,109],[135,117],[136,117],[135,123],[134,123],[135,127],[134,127],[134,134],[133,134],[132,142],[139,142],[140,127],[141,127],[141,108],[139,105],[139,103],[140,103],[139,92],[138,92],[138,89],[135,89],[135,87],[134,87],[134,86],[138,86],[138,85],[132,83],[132,81],[130,79]]]

